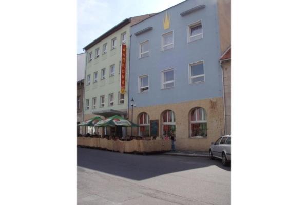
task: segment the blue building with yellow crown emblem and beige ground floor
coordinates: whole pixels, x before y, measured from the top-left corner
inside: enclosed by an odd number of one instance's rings
[[[215,0],[187,0],[131,27],[134,135],[175,136],[177,149],[206,150],[224,134],[218,10]]]

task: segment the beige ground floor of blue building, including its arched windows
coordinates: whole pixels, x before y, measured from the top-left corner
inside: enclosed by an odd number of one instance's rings
[[[156,124],[157,140],[174,136],[178,150],[207,151],[211,142],[224,134],[223,109],[223,98],[133,107],[133,122],[140,125],[133,128],[133,135],[151,136]],[[128,114],[130,120],[131,109]]]

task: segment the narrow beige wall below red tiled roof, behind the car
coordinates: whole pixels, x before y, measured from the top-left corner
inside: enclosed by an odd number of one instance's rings
[[[226,134],[231,134],[231,61],[223,61],[223,84],[225,96]]]

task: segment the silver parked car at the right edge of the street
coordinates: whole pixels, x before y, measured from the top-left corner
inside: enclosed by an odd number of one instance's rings
[[[224,166],[231,162],[231,136],[225,135],[212,142],[209,159],[219,158]]]

